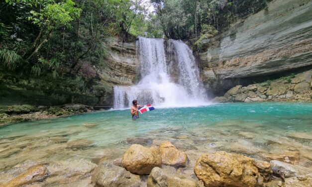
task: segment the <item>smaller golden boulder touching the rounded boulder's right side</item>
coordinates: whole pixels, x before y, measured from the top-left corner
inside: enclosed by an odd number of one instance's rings
[[[185,166],[188,161],[186,153],[179,151],[170,142],[160,144],[159,150],[161,153],[162,164],[170,166]]]

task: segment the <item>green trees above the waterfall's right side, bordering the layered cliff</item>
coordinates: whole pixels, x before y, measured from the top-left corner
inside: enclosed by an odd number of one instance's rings
[[[211,38],[240,17],[258,12],[269,0],[151,0],[154,19],[167,38],[192,39],[201,50],[201,42]]]

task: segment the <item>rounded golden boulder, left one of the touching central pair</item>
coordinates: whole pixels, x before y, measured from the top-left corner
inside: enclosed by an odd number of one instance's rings
[[[159,148],[156,146],[146,148],[142,145],[133,144],[123,154],[121,164],[133,174],[149,174],[154,167],[161,166]]]

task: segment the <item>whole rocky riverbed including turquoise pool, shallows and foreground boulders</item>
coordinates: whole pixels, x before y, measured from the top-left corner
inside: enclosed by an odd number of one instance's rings
[[[0,186],[311,183],[309,103],[225,103],[144,114],[132,121],[128,110],[112,110],[3,126]]]

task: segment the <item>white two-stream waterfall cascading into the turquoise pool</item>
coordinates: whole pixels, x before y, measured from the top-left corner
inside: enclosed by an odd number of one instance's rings
[[[135,86],[114,87],[114,108],[125,108],[137,99],[155,106],[191,106],[205,103],[206,94],[191,49],[182,41],[169,40],[170,51],[177,58],[178,84],[172,81],[166,64],[163,39],[139,37],[137,52],[142,79]]]

